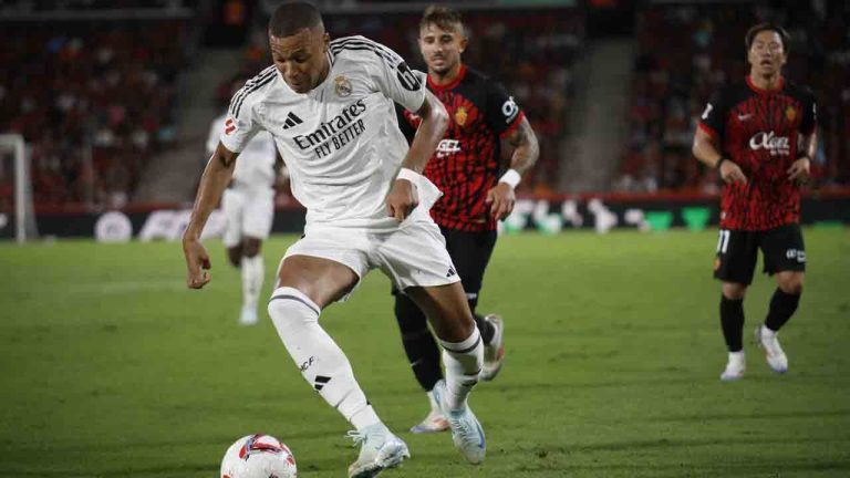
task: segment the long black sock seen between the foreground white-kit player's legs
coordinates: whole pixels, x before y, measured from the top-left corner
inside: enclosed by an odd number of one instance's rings
[[[402,331],[402,345],[423,389],[431,391],[443,378],[439,367],[439,349],[428,329],[427,319],[406,295],[395,297],[395,319]]]

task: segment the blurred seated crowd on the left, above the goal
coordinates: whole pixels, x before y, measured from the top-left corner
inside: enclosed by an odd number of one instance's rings
[[[37,204],[131,199],[148,158],[176,135],[186,31],[179,20],[3,25],[0,131],[31,146]]]

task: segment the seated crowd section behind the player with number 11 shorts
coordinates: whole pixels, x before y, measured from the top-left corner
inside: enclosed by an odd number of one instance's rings
[[[614,189],[717,191],[717,173],[691,154],[696,119],[712,92],[746,75],[744,34],[760,21],[788,25],[792,43],[785,74],[817,96],[815,180],[821,187],[850,185],[850,25],[847,17],[826,11],[826,2],[822,10],[818,4],[666,4],[640,11],[630,141]]]

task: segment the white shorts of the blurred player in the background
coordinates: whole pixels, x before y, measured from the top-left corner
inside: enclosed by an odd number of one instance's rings
[[[270,187],[225,189],[221,197],[227,228],[225,247],[238,246],[246,237],[266,240],[274,218],[274,190]]]

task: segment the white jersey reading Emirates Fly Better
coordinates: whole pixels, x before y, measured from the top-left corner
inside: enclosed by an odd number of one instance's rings
[[[384,200],[407,153],[393,102],[418,111],[425,75],[363,37],[332,41],[328,60],[328,77],[307,94],[293,92],[273,65],[246,83],[221,143],[239,153],[257,132],[271,133],[308,226],[390,226]],[[421,200],[433,199],[423,189]]]

